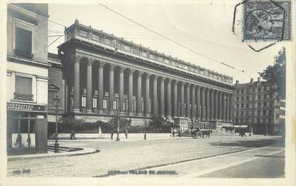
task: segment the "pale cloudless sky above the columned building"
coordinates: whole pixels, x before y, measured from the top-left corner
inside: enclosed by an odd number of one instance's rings
[[[233,83],[235,80],[247,83],[250,78],[256,80],[259,77],[258,72],[274,63],[277,51],[287,45],[287,43],[277,43],[260,52],[252,51],[246,43],[241,41],[239,22],[236,26],[239,34],[235,35],[232,32],[233,10],[235,4],[239,3],[235,0],[91,2],[90,4],[49,4],[49,19],[63,26],[70,26],[75,19],[78,19],[79,23],[91,26],[93,29],[113,33],[115,36],[123,37],[160,53],[233,76]],[[97,2],[197,53],[143,29]],[[242,14],[237,15],[238,20],[242,19]],[[57,38],[54,35],[63,34],[64,28],[58,24],[49,22],[49,44]],[[57,53],[56,47],[63,41],[61,37],[52,43],[49,46],[49,52]],[[265,46],[267,43],[262,42],[259,45]],[[240,71],[208,58],[227,63]]]

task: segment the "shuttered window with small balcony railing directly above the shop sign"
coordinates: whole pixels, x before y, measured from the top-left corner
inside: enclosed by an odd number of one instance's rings
[[[33,100],[32,95],[32,78],[16,76],[15,100]]]

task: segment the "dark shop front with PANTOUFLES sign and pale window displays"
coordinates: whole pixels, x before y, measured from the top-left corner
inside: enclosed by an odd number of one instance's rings
[[[46,105],[6,103],[7,155],[47,153]]]

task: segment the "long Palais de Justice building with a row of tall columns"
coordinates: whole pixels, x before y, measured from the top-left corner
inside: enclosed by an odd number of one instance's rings
[[[233,78],[75,23],[58,46],[65,113],[86,122],[114,114],[144,125],[159,115],[175,124],[233,121]],[[72,116],[71,116],[72,117]],[[222,122],[221,122],[222,121]]]

